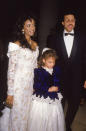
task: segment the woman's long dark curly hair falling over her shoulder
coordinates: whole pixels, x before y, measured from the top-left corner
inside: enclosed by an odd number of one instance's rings
[[[19,41],[21,43],[20,46],[25,47],[25,48],[30,48],[30,44],[28,44],[25,35],[22,33],[22,29],[24,27],[24,23],[26,20],[34,20],[35,21],[35,17],[31,16],[31,15],[26,15],[24,14],[22,17],[18,18],[14,29],[13,29],[13,41]],[[35,40],[35,34],[34,36],[31,37],[33,40]]]

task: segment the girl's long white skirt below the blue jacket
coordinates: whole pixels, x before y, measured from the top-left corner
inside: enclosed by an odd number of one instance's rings
[[[51,102],[51,101],[50,101]],[[64,113],[61,100],[50,103],[33,99],[28,120],[28,131],[64,131]]]

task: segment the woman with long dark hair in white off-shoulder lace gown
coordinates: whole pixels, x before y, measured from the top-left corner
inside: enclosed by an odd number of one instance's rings
[[[30,99],[33,93],[34,68],[37,66],[38,46],[31,38],[35,32],[35,21],[25,17],[17,24],[17,41],[10,42],[7,56],[8,92],[5,108],[0,118],[0,131],[27,131]]]

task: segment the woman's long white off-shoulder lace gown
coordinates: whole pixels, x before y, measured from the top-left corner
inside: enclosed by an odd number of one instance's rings
[[[0,131],[27,131],[30,98],[33,92],[34,68],[39,51],[31,51],[10,42],[7,56],[8,95],[14,96],[13,107],[5,108],[0,118]]]

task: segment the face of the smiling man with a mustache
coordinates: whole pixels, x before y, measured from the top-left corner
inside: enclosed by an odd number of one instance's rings
[[[62,22],[62,25],[64,26],[64,29],[67,32],[71,32],[75,27],[75,17],[72,14],[65,15],[64,21]]]

